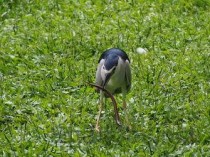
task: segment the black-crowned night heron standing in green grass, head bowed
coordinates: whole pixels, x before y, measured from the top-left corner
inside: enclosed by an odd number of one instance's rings
[[[111,94],[122,93],[123,108],[126,114],[126,122],[128,123],[126,94],[131,88],[131,70],[128,55],[121,49],[111,48],[102,53],[98,63],[96,85],[105,88]],[[96,131],[99,131],[99,120],[103,106],[103,98],[104,92],[100,90],[100,106],[95,128]]]

